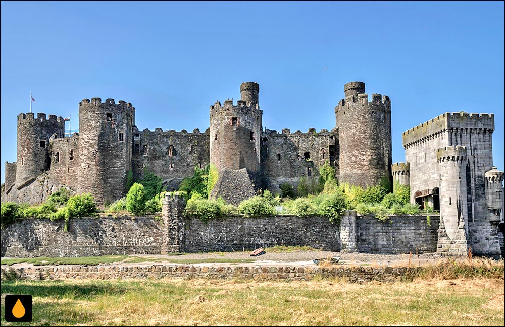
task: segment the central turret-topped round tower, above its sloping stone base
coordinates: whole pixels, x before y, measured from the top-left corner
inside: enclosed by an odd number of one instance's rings
[[[210,107],[211,163],[218,171],[227,168],[260,170],[260,133],[263,111],[258,105],[260,86],[255,82],[240,85],[241,99],[233,105],[216,102]]]

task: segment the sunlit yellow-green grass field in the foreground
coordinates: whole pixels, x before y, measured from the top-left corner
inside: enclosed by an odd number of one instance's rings
[[[502,279],[348,284],[252,282],[2,282],[8,325],[503,325]],[[5,295],[31,294],[33,321],[5,321]]]

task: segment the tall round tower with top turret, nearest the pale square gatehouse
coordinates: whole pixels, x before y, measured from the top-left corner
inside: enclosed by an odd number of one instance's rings
[[[335,107],[340,144],[340,182],[377,185],[391,182],[391,102],[372,94],[368,102],[365,83],[344,85],[345,99]]]

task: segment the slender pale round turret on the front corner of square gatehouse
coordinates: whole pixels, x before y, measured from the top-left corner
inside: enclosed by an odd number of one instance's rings
[[[465,221],[468,217],[467,148],[460,145],[439,148],[436,156],[440,172],[440,214],[447,236],[453,240],[462,221],[468,228]]]

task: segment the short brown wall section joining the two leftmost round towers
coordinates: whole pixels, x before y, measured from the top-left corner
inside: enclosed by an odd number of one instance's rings
[[[55,183],[77,190],[79,135],[49,141],[51,175]]]

